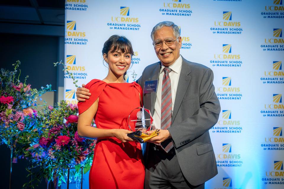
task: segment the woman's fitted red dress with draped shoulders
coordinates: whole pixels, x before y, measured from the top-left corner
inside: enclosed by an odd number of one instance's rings
[[[131,110],[140,106],[140,85],[136,82],[106,83],[93,79],[85,88],[90,90],[91,96],[85,102],[78,103],[79,114],[99,97],[98,110],[94,117],[97,128],[130,130],[127,119]],[[145,177],[142,158],[141,145],[137,142],[122,143],[115,137],[98,140],[89,174],[90,189],[142,189]]]

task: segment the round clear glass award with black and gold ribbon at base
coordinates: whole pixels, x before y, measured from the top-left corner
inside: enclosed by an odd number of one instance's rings
[[[159,132],[154,126],[150,110],[143,107],[137,107],[130,112],[128,116],[128,126],[133,132],[128,133],[127,136],[136,139],[140,143],[144,143],[157,136]],[[149,135],[146,131],[150,130],[155,131]]]

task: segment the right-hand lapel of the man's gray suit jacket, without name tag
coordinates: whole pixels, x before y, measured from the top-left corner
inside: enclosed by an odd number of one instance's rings
[[[172,123],[175,120],[175,116],[177,115],[178,109],[180,108],[181,102],[183,101],[183,97],[191,80],[191,76],[189,76],[190,72],[191,69],[189,63],[183,58],[183,63],[181,65],[181,71],[180,71],[180,78],[178,80],[177,93],[175,95],[175,105],[172,113]]]

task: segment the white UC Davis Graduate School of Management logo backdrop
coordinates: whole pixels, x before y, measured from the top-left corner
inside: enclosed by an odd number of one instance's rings
[[[282,0],[67,0],[65,65],[78,85],[104,79],[101,50],[114,34],[132,42],[128,82],[159,61],[150,38],[161,21],[180,27],[180,54],[214,72],[221,103],[210,129],[218,175],[205,188],[284,188]],[[65,73],[65,100],[77,103]],[[88,188],[88,176],[84,176]]]

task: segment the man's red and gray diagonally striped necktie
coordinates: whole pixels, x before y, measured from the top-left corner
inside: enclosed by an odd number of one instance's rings
[[[166,130],[171,126],[172,122],[172,88],[171,79],[169,76],[170,68],[165,67],[163,69],[163,83],[162,83],[162,104],[161,104],[161,129]],[[161,147],[164,151],[169,152],[173,147],[171,139],[167,139],[161,143]]]

